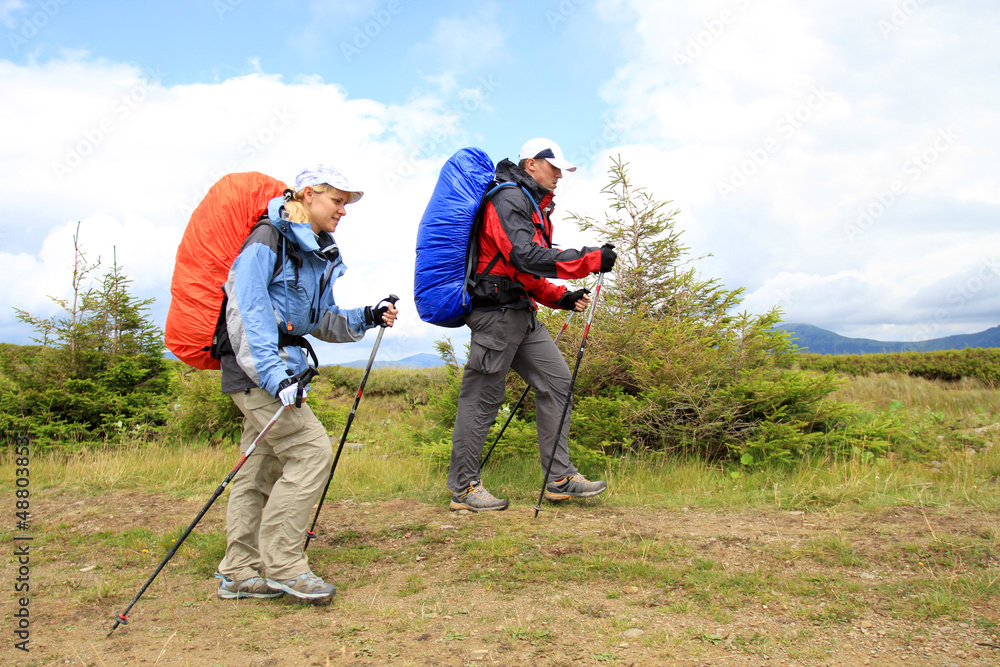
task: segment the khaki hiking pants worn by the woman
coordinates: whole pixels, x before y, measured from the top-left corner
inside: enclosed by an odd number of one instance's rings
[[[243,413],[240,451],[245,452],[281,401],[259,388],[231,396]],[[330,436],[312,410],[303,403],[282,412],[233,479],[219,573],[242,581],[308,572],[303,542],[332,465]]]

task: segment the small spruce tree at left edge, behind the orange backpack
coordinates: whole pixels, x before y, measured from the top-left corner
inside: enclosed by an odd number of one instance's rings
[[[166,418],[169,377],[159,329],[149,319],[153,299],[137,299],[117,258],[99,286],[87,275],[100,266],[73,236],[73,294],[52,298],[63,315],[41,318],[15,308],[40,347],[3,357],[16,387],[0,398],[0,439],[23,433],[41,443],[149,436]]]

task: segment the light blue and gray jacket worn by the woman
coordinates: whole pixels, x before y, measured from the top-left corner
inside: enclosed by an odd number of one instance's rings
[[[223,286],[233,348],[232,355],[220,360],[222,391],[227,394],[260,387],[277,396],[282,380],[305,370],[305,350],[279,349],[279,330],[349,343],[375,326],[365,324],[363,307],[340,308],[334,301],[333,283],[347,266],[333,237],[326,232],[316,236],[309,223],[288,220],[284,203],[283,197],[270,201],[270,224],[250,233]],[[291,331],[286,323],[291,323]]]

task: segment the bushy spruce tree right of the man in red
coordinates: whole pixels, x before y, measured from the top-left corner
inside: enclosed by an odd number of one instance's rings
[[[698,274],[671,202],[633,183],[620,158],[609,176],[603,218],[570,214],[618,250],[577,381],[574,436],[604,451],[741,458],[778,423],[797,435],[759,459],[810,448],[832,376],[789,370],[795,347],[774,329],[780,313],[739,312],[742,288]]]

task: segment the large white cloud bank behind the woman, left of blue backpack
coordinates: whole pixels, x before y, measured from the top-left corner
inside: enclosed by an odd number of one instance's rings
[[[80,220],[88,257],[107,267],[114,247],[137,295],[157,299],[162,326],[176,246],[208,187],[249,170],[290,182],[322,160],[366,192],[337,233],[349,267],[338,302],[397,294],[402,315],[380,358],[432,350],[442,330],[419,321],[411,292],[416,225],[459,126],[442,122],[441,104],[388,106],[350,99],[335,84],[260,74],[163,86],[136,68],[79,57],[0,62],[0,87],[9,91],[0,122],[20,128],[0,147],[0,184],[17,193],[0,221],[0,262],[15,267],[0,295],[0,339],[27,341],[12,306],[48,315],[47,295],[67,295]],[[407,149],[435,125],[436,144]],[[323,362],[366,354],[347,347],[330,348]]]

